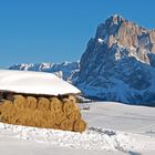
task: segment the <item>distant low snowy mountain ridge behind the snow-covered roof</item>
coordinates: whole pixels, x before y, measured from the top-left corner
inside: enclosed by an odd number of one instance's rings
[[[59,78],[71,82],[79,72],[79,62],[63,62],[63,63],[21,63],[14,64],[9,68],[10,70],[23,70],[23,71],[40,71],[40,72],[51,72]]]

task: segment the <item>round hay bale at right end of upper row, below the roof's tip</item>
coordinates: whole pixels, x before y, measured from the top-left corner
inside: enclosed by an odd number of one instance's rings
[[[79,107],[78,107],[78,105],[75,103],[73,103],[71,101],[64,103],[64,105],[63,105],[63,112],[66,115],[70,115],[74,111],[79,111]]]

